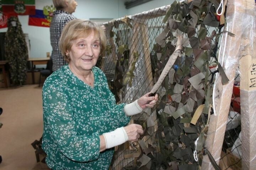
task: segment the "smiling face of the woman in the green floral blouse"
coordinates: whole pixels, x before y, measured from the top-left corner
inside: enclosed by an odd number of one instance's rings
[[[74,40],[71,50],[68,51],[70,56],[70,66],[79,72],[91,70],[96,65],[100,55],[100,39],[95,37],[95,33],[87,37]]]

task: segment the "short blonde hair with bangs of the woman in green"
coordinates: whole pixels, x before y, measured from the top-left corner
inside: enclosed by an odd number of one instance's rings
[[[99,24],[85,19],[73,19],[64,26],[59,40],[59,49],[66,62],[70,62],[66,52],[71,50],[74,40],[87,37],[92,32],[100,40],[100,55],[103,55],[106,48],[106,35]]]

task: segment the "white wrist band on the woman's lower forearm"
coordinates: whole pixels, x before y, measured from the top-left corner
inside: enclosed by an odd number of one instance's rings
[[[114,131],[104,133],[106,149],[123,144],[128,141],[128,136],[123,127],[117,128]]]

